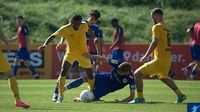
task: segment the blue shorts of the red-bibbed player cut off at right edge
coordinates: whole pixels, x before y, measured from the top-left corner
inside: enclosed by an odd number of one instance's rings
[[[192,59],[200,61],[200,46],[199,45],[192,45],[190,46]]]

